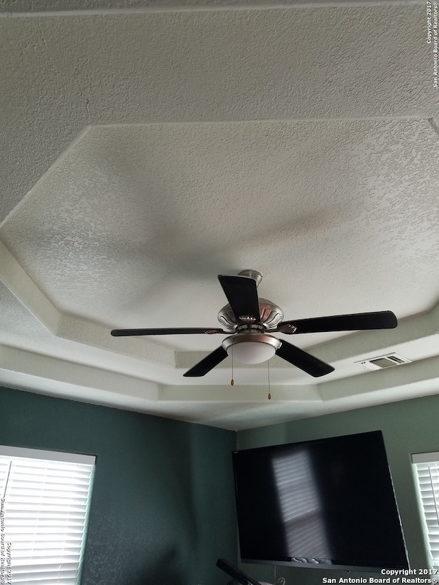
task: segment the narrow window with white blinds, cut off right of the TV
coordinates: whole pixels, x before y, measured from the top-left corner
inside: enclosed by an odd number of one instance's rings
[[[418,478],[431,566],[439,568],[439,452],[417,453],[412,455],[412,462]]]

